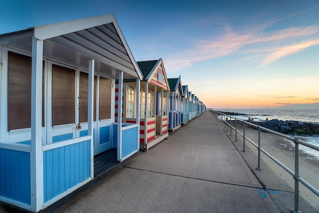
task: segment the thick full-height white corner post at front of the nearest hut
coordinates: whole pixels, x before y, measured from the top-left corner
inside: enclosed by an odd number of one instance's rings
[[[43,206],[43,152],[42,152],[42,62],[43,40],[32,38],[31,77],[31,209]]]

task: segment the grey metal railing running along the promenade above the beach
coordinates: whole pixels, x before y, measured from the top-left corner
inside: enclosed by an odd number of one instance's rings
[[[257,170],[261,169],[260,168],[260,152],[262,152],[265,155],[267,155],[269,158],[271,158],[281,168],[283,168],[285,171],[287,171],[291,176],[293,176],[293,178],[295,179],[295,207],[293,209],[291,209],[291,212],[300,212],[299,211],[299,182],[301,182],[306,188],[308,188],[311,192],[313,192],[316,196],[319,197],[319,191],[317,189],[315,189],[314,187],[312,187],[312,185],[309,184],[307,181],[305,181],[299,174],[299,144],[304,145],[306,147],[309,147],[311,149],[317,150],[317,151],[319,151],[319,147],[314,146],[312,144],[309,144],[305,141],[302,141],[299,138],[293,138],[293,137],[281,134],[280,132],[273,131],[271,129],[264,128],[260,125],[256,125],[256,124],[251,123],[251,122],[247,122],[247,121],[244,121],[241,119],[231,117],[230,115],[226,115],[226,114],[223,114],[223,113],[218,112],[218,111],[211,111],[211,112],[216,116],[217,120],[222,125],[224,125],[224,128],[227,127],[227,131],[228,131],[228,127],[230,128],[230,135],[232,135],[232,129],[235,130],[235,142],[237,141],[237,132],[238,132],[238,134],[243,136],[243,151],[246,151],[245,150],[245,140],[249,141],[252,145],[254,145],[258,149],[258,166],[256,168]],[[235,126],[232,125],[231,121],[235,121]],[[244,124],[243,125],[243,133],[237,129],[237,121],[241,121]],[[250,140],[249,138],[247,138],[245,136],[245,124],[248,124],[248,126],[253,126],[254,128],[258,129],[258,144],[254,143],[252,140]],[[275,157],[273,157],[271,154],[269,154],[268,152],[266,152],[265,150],[263,150],[261,148],[261,146],[260,146],[260,130],[263,130],[265,132],[270,132],[274,135],[288,139],[288,140],[293,141],[295,143],[295,172],[291,171],[288,167],[286,167],[285,165],[280,163]]]

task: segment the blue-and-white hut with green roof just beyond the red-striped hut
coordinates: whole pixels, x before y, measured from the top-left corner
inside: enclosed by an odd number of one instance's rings
[[[181,125],[181,96],[183,89],[178,78],[168,78],[170,85],[170,107],[168,111],[168,130],[175,131]]]

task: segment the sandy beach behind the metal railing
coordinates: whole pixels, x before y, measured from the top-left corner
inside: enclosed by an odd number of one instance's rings
[[[238,130],[243,132],[243,125],[237,125]],[[227,127],[225,128],[225,131]],[[230,135],[230,129],[226,131],[227,135]],[[248,126],[245,127],[245,136],[248,137],[250,140],[258,144],[258,130],[254,128],[249,128]],[[255,169],[258,165],[257,163],[257,148],[251,144],[249,141],[246,140],[246,152],[243,152],[243,136],[237,133],[237,142],[235,141],[235,131],[232,130],[232,135],[229,138],[233,141],[234,145],[237,147],[238,151],[241,152],[242,156],[244,157],[245,161],[250,161],[251,169],[254,170],[256,173],[258,171]],[[268,132],[260,132],[260,146],[263,150],[274,156],[279,162],[284,164],[288,167],[291,171],[295,171],[295,147],[294,144],[291,144],[289,140],[282,138],[277,135],[273,135]],[[253,152],[254,156],[251,156]],[[250,155],[249,155],[250,154]],[[246,157],[249,159],[246,159]],[[255,159],[254,159],[255,158]],[[291,191],[294,190],[295,180],[294,178],[282,169],[279,165],[277,165],[272,159],[270,159],[267,155],[261,153],[262,163],[260,164],[260,168],[263,169],[265,166],[269,166],[271,170],[275,172],[280,178],[284,180],[282,185],[276,186],[281,188],[282,191]],[[248,162],[247,162],[248,163]],[[248,163],[249,164],[249,163]],[[264,165],[267,164],[267,165]],[[311,184],[315,189],[319,189],[319,159],[316,157],[306,154],[302,151],[299,152],[299,174],[300,176]],[[272,179],[276,179],[276,177],[267,177],[267,174],[262,176],[261,181],[266,185],[266,189],[272,188],[272,184],[275,181]],[[277,180],[276,180],[277,181]],[[287,184],[284,184],[287,183]],[[287,185],[290,189],[287,188]],[[300,196],[302,196],[306,201],[309,202],[313,207],[319,209],[319,197],[317,197],[314,193],[304,187],[303,184],[299,184],[299,191]],[[302,210],[302,206],[300,207]]]

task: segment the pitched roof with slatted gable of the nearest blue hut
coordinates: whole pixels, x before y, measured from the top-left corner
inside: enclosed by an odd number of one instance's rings
[[[43,41],[44,58],[81,69],[88,69],[93,59],[97,73],[117,78],[122,71],[124,78],[142,78],[113,14],[32,26],[0,35],[0,45],[32,54],[33,38]]]

